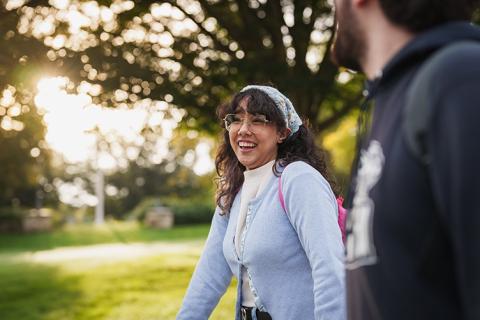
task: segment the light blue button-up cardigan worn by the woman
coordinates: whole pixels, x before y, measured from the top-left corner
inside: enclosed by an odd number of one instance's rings
[[[241,257],[234,245],[240,192],[229,215],[220,215],[217,208],[177,320],[208,319],[232,275],[239,279],[239,319],[241,264],[247,267],[257,308],[273,320],[346,318],[344,248],[335,196],[313,167],[291,163],[281,180],[286,213],[278,179],[272,175],[249,202]]]

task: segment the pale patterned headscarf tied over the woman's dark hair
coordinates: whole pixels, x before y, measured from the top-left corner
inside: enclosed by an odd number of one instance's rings
[[[293,104],[290,100],[284,96],[280,91],[277,89],[270,87],[270,86],[258,86],[258,85],[249,85],[240,90],[240,92],[249,90],[249,89],[257,89],[264,93],[266,93],[270,99],[275,102],[275,105],[280,109],[282,112],[283,118],[285,119],[285,124],[287,128],[290,129],[290,136],[298,131],[298,128],[302,125],[302,119],[298,116]]]

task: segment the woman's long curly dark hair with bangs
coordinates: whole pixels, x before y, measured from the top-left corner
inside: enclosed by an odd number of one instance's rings
[[[277,126],[278,130],[285,130],[285,120],[275,102],[263,91],[249,89],[237,93],[232,101],[223,104],[217,109],[217,116],[222,120],[225,115],[235,113],[242,100],[247,99],[247,111],[251,114],[263,114]],[[222,126],[224,126],[222,121]],[[278,145],[278,153],[272,170],[276,176],[281,172],[277,170],[277,164],[281,168],[294,161],[304,161],[314,167],[330,183],[333,192],[337,195],[337,185],[327,168],[325,152],[315,145],[314,135],[308,128],[308,124],[301,125],[299,130]],[[223,131],[223,142],[220,145],[216,158],[215,167],[218,174],[216,204],[223,214],[228,213],[232,206],[235,195],[243,184],[243,172],[245,167],[238,161],[232,146],[228,131]]]

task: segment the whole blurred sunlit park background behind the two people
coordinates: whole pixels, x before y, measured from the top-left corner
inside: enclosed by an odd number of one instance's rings
[[[345,191],[363,79],[333,35],[332,1],[2,0],[0,319],[174,319],[246,84],[292,100]]]

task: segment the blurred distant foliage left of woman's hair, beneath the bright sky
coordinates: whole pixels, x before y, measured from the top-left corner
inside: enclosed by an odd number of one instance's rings
[[[136,159],[125,170],[107,176],[107,184],[120,190],[117,195],[107,197],[107,214],[123,219],[129,211],[134,210],[131,212],[133,216],[143,220],[145,210],[155,199],[160,199],[160,204],[171,198],[188,201],[194,198],[196,200],[192,201],[195,203],[211,201],[215,186],[214,173],[199,176],[191,167],[196,161],[195,148],[199,141],[199,137],[189,138],[185,130],[178,130],[169,143],[168,159],[159,164]],[[142,156],[147,158],[148,152],[144,153]],[[190,163],[186,160],[187,155],[192,156]],[[210,222],[205,219],[201,221]]]

